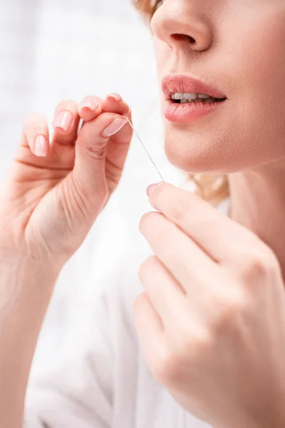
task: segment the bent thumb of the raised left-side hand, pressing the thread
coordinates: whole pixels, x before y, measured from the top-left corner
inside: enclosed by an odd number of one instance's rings
[[[73,168],[73,180],[88,195],[108,192],[105,176],[105,158],[110,140],[126,125],[128,120],[118,113],[102,113],[93,121],[83,124],[76,141],[76,159]],[[123,131],[123,130],[122,130]],[[121,131],[121,132],[122,132]],[[132,130],[130,128],[130,139]],[[129,141],[130,142],[130,141]],[[119,149],[118,149],[119,150]],[[122,146],[125,151],[125,145]],[[120,158],[120,153],[118,158]],[[122,166],[123,169],[123,166]]]

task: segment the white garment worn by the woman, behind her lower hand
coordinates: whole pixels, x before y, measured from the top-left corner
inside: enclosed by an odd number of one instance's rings
[[[24,428],[209,427],[175,402],[142,357],[132,302],[150,254],[146,241],[134,246],[95,284],[100,291],[69,326],[60,356],[31,378]]]

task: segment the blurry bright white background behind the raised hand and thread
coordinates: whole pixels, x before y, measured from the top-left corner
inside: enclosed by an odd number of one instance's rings
[[[0,55],[0,178],[28,113],[44,113],[51,123],[63,99],[118,92],[133,108],[134,126],[165,181],[182,182],[163,151],[151,33],[129,0],[0,0]],[[68,318],[84,310],[96,277],[142,239],[138,223],[152,210],[145,189],[158,181],[134,137],[118,190],[58,278],[42,334],[46,358]]]

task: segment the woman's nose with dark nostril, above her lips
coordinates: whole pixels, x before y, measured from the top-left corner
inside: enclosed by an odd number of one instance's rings
[[[207,51],[212,45],[213,31],[206,3],[203,1],[201,6],[200,0],[166,0],[152,17],[152,34],[173,51],[182,45],[192,51]]]

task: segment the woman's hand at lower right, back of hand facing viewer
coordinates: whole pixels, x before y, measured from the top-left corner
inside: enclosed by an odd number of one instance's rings
[[[140,221],[155,255],[133,304],[147,365],[215,428],[285,427],[285,293],[254,233],[193,193],[160,183]]]

